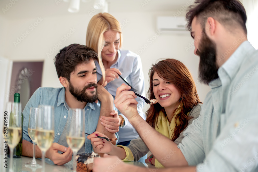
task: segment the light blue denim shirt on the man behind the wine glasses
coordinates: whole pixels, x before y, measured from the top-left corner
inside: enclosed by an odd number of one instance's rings
[[[65,103],[65,88],[38,88],[31,96],[23,110],[23,139],[32,143],[28,134],[29,114],[31,107],[38,105],[51,105],[54,107],[55,138],[53,142],[58,142],[68,118],[68,107]],[[96,130],[101,103],[87,103],[85,106],[85,132],[93,133]],[[117,109],[114,109],[117,110]],[[118,135],[116,134],[118,138]],[[85,135],[85,152],[92,152],[91,141]]]

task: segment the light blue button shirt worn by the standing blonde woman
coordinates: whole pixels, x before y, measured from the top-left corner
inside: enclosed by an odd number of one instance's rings
[[[117,61],[111,65],[110,68],[116,68],[119,69],[122,72],[122,77],[134,88],[138,91],[136,93],[146,97],[145,91],[144,91],[144,75],[142,71],[142,62],[139,55],[128,51],[128,50],[118,50],[118,58]],[[100,66],[98,62],[95,62],[97,69],[97,77],[98,81],[102,77],[102,72],[100,70]],[[107,91],[115,98],[116,96],[116,89],[121,86],[121,84],[126,84],[120,77],[118,79],[115,79],[114,81],[111,81],[106,85]],[[143,113],[142,109],[145,105],[145,102],[142,98],[137,97],[136,101],[137,104],[137,110],[140,114],[140,116],[145,120],[146,116]],[[122,114],[119,114],[122,115]],[[137,138],[139,135],[136,132],[136,130],[133,128],[133,126],[128,122],[127,118],[122,115],[125,119],[125,126],[119,128],[119,142],[129,141],[132,139]]]

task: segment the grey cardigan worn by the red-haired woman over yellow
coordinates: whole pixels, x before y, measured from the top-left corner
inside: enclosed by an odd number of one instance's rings
[[[201,105],[202,104],[197,104],[190,111],[188,116],[193,117],[193,118],[189,119],[188,126],[190,124],[192,124],[193,120],[195,120],[199,117]],[[183,130],[183,132],[187,129],[187,127]],[[181,132],[179,137],[175,140],[176,144],[181,143],[182,139],[184,138],[183,132]],[[149,152],[148,147],[145,145],[145,143],[143,142],[143,140],[140,137],[131,140],[130,144],[127,147],[132,151],[134,161],[138,161],[141,157],[143,157],[144,155],[146,155]]]

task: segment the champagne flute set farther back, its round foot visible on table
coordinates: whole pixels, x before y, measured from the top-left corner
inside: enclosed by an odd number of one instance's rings
[[[37,116],[39,114],[39,108],[30,108],[30,116],[29,116],[29,125],[28,125],[28,134],[30,136],[30,139],[33,142],[33,159],[31,161],[31,163],[26,163],[25,166],[26,167],[36,167],[36,168],[40,168],[41,165],[39,165],[36,162],[36,158],[35,158],[35,154],[36,154],[36,150],[35,150],[35,132],[36,132],[36,119]]]

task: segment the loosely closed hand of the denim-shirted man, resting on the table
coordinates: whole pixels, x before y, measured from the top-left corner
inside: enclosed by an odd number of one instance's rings
[[[64,152],[59,154],[58,151]],[[63,165],[72,159],[72,150],[68,147],[53,143],[51,147],[46,151],[46,158],[51,159],[57,165]]]

